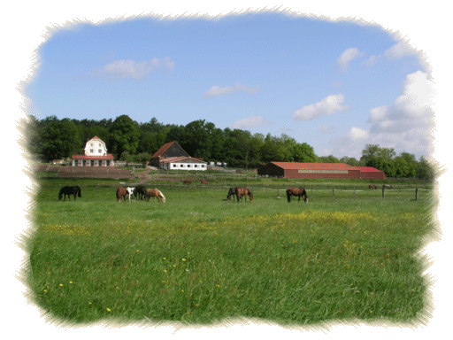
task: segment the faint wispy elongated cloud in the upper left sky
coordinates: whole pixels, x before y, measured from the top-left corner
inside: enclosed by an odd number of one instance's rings
[[[126,80],[142,81],[150,76],[157,69],[172,71],[174,62],[171,58],[152,58],[149,61],[134,61],[132,59],[115,60],[102,68],[97,68],[86,77],[79,78],[103,78],[106,80]]]

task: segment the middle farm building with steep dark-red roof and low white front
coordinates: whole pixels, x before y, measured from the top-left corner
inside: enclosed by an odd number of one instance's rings
[[[202,158],[193,158],[176,142],[165,143],[151,158],[150,166],[165,170],[198,170],[208,169]]]

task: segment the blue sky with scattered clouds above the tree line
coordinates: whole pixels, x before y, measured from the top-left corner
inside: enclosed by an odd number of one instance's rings
[[[27,86],[39,119],[207,120],[285,133],[317,155],[430,153],[434,95],[417,50],[353,22],[249,14],[57,30]]]

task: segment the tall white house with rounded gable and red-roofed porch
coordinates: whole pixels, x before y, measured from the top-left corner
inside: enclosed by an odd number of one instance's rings
[[[113,155],[96,135],[85,144],[85,155],[73,155],[73,166],[113,166]]]

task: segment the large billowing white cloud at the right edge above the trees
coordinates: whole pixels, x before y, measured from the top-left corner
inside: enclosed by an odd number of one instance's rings
[[[428,156],[434,128],[434,112],[430,107],[433,95],[427,73],[408,74],[402,93],[393,104],[370,110],[367,122],[371,128],[350,128],[348,133],[329,142],[334,154],[360,158],[365,144],[379,144],[394,148],[396,153],[406,151],[417,158]]]

